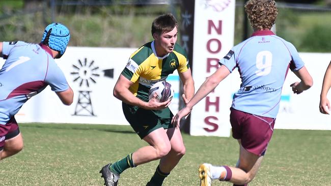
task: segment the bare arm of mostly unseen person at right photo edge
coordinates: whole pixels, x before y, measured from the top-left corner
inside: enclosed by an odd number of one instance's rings
[[[330,114],[331,106],[329,100],[326,98],[327,92],[330,89],[330,87],[331,87],[331,61],[324,75],[323,85],[320,95],[319,111],[323,114]]]

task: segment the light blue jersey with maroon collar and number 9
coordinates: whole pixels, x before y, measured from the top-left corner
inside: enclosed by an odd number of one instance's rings
[[[241,85],[232,108],[271,118],[277,116],[288,69],[298,71],[304,67],[295,47],[270,30],[253,33],[234,46],[219,64],[230,72],[238,68],[240,73]]]

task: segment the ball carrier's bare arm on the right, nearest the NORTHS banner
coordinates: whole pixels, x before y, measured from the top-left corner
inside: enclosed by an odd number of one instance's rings
[[[178,73],[180,80],[182,81],[183,84],[183,100],[185,104],[189,102],[189,100],[192,99],[194,96],[194,80],[192,78],[191,70],[188,69],[186,72],[183,73]]]

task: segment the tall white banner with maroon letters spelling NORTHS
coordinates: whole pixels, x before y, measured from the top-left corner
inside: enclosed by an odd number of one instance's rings
[[[192,75],[196,90],[233,46],[235,1],[196,0]],[[229,78],[230,79],[230,78]],[[229,136],[230,81],[226,79],[191,113],[190,134]]]

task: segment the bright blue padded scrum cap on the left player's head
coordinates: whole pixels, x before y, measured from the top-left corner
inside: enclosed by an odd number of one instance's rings
[[[60,58],[66,51],[70,40],[69,29],[61,23],[51,23],[44,31],[41,42],[49,48],[59,52],[56,58]]]

